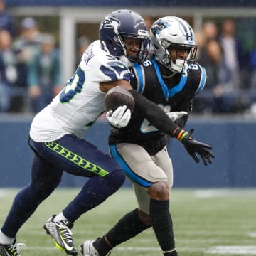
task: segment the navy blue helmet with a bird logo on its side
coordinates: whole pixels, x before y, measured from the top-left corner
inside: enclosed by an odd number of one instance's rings
[[[100,23],[100,42],[102,48],[109,51],[111,55],[118,57],[126,65],[142,63],[149,54],[149,32],[142,16],[130,10],[112,11]],[[127,56],[125,38],[133,38],[141,41],[140,49],[136,55]]]

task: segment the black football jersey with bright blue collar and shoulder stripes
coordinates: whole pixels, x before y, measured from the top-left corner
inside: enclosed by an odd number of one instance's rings
[[[198,63],[194,63],[188,73],[184,72],[171,78],[164,78],[160,73],[159,65],[161,64],[154,58],[146,60],[142,65],[135,64],[132,69],[132,87],[139,94],[162,107],[164,112],[189,112],[191,100],[203,90],[206,82],[206,70]],[[183,127],[185,123],[178,125]],[[156,127],[151,125],[135,107],[127,127],[114,128],[110,132],[109,144],[121,142],[139,144],[150,155],[154,155],[164,148],[167,137],[166,134],[159,132]]]

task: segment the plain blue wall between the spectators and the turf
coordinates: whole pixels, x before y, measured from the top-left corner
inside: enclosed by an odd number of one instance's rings
[[[0,121],[0,188],[25,186],[30,179],[33,152],[27,137],[31,119],[6,117]],[[232,188],[256,186],[256,122],[240,117],[193,117],[186,129],[195,128],[194,136],[213,146],[215,159],[210,166],[198,164],[176,139],[169,142],[174,165],[175,187]],[[93,124],[85,138],[108,154],[105,120]],[[69,174],[61,186],[82,186],[85,179]],[[129,182],[125,183],[129,185]]]

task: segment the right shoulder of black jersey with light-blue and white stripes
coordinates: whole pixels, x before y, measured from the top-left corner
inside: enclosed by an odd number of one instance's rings
[[[199,92],[201,92],[201,90],[203,90],[204,86],[206,85],[206,69],[198,63],[193,63],[189,73],[193,74],[193,87],[195,90],[194,93],[198,94]]]

